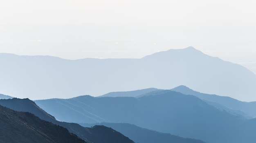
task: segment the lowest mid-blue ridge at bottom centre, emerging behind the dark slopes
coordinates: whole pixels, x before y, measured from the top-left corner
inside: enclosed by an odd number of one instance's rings
[[[100,123],[100,124],[81,124],[82,126],[89,127],[95,125],[104,125],[121,132],[126,137],[135,141],[135,143],[205,143],[196,139],[182,138],[172,134],[166,134],[162,132],[156,132],[154,130],[148,130],[146,128],[140,128],[138,126],[127,123]]]

